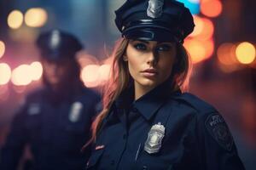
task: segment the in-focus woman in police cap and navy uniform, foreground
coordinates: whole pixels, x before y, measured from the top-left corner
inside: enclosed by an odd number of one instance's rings
[[[88,169],[244,169],[223,117],[183,93],[194,29],[183,3],[130,0],[116,11],[124,37],[94,123]]]

